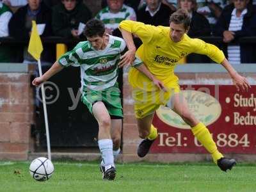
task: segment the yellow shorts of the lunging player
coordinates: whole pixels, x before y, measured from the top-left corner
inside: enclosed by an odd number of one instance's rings
[[[179,84],[169,87],[168,92],[156,90],[154,92],[145,92],[138,88],[132,89],[134,99],[134,113],[136,118],[143,118],[153,114],[161,105],[166,105],[174,93],[180,92]]]

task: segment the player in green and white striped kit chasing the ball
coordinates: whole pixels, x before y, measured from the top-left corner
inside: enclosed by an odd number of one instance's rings
[[[100,170],[103,179],[113,180],[116,175],[114,157],[120,152],[123,118],[116,79],[125,42],[122,38],[106,34],[104,24],[98,19],[86,23],[84,35],[87,41],[79,42],[72,51],[63,54],[43,76],[36,77],[32,84],[40,85],[69,65],[81,68],[81,100],[99,124],[98,143],[102,154]],[[164,89],[161,81],[152,76],[138,58],[133,67],[148,76],[158,88]]]

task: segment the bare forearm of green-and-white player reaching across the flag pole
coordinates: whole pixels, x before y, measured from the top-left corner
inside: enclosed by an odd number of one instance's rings
[[[41,77],[36,77],[33,81],[32,84],[35,86],[39,86],[41,83],[44,83],[48,79],[50,79],[52,76],[54,76],[56,73],[60,72],[64,67],[60,65],[58,61],[56,61],[47,72],[45,72],[44,75]]]

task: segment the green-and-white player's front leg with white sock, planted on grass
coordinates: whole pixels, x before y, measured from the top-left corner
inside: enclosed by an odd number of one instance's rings
[[[99,124],[98,143],[102,156],[103,179],[115,179],[115,164],[113,157],[113,141],[111,140],[111,119],[108,109],[103,102],[95,102],[92,106],[92,113]]]

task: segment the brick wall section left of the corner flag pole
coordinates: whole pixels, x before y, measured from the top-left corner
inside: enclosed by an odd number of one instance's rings
[[[33,111],[30,75],[0,72],[0,159],[28,159]]]

